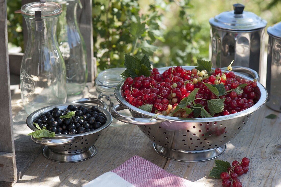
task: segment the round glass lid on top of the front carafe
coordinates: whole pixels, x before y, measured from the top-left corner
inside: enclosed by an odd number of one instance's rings
[[[35,17],[35,11],[41,11],[41,17],[58,15],[62,12],[62,6],[54,2],[33,2],[24,4],[21,13],[24,16]]]

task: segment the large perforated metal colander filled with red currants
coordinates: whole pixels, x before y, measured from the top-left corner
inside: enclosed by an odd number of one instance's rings
[[[160,73],[169,67],[159,68]],[[192,69],[194,66],[183,66]],[[259,79],[256,71],[246,67],[233,67],[233,71],[239,71],[252,75]],[[241,73],[236,77],[253,80]],[[266,89],[258,83],[259,100],[252,107],[230,114],[213,118],[176,118],[146,112],[128,103],[121,95],[124,84],[120,82],[115,89],[115,97],[120,105],[111,110],[112,116],[125,123],[138,125],[140,130],[153,141],[155,151],[168,159],[185,162],[199,162],[214,159],[226,149],[226,143],[230,142],[243,129],[251,114],[259,109],[267,100]],[[124,116],[118,111],[129,109],[133,117]],[[149,119],[150,118],[150,119]]]

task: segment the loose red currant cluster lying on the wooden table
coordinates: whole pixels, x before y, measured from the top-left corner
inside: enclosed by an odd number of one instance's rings
[[[250,159],[247,157],[244,157],[241,162],[238,162],[237,160],[233,161],[232,167],[228,168],[228,172],[222,172],[220,175],[223,180],[223,186],[229,187],[232,180],[233,187],[242,187],[242,183],[237,177],[246,174],[249,171],[249,163]]]

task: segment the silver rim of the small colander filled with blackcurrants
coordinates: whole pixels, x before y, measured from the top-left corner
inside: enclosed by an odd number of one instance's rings
[[[38,130],[35,126],[33,126],[33,120],[39,116],[40,114],[42,113],[45,113],[47,111],[50,111],[51,109],[55,108],[55,107],[58,107],[58,108],[67,108],[68,105],[74,105],[74,106],[83,106],[85,108],[88,108],[90,109],[92,106],[91,105],[86,105],[86,104],[81,104],[81,103],[64,103],[64,104],[57,104],[57,105],[51,105],[51,106],[48,106],[48,107],[44,107],[42,109],[39,109],[35,112],[32,112],[26,119],[26,125],[33,131],[36,131]],[[82,133],[82,134],[56,134],[55,138],[56,137],[60,137],[60,138],[70,138],[70,137],[79,137],[79,136],[86,136],[86,135],[90,135],[90,134],[94,134],[94,133],[98,133],[100,131],[102,131],[103,129],[106,129],[112,122],[112,116],[111,114],[101,108],[101,107],[98,107],[99,111],[101,113],[103,113],[105,116],[106,116],[106,122],[103,126],[101,126],[100,128],[96,129],[96,130],[93,130],[93,131],[90,131],[90,132],[85,132],[85,133]],[[47,138],[46,138],[47,139]],[[48,138],[48,139],[53,139],[53,138]]]

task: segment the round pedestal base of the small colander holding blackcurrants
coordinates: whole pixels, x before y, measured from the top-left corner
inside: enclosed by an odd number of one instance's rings
[[[83,160],[87,160],[93,157],[97,153],[97,148],[95,146],[89,147],[88,150],[75,153],[75,154],[62,154],[58,152],[54,152],[49,147],[44,147],[43,155],[52,161],[56,162],[79,162]]]

